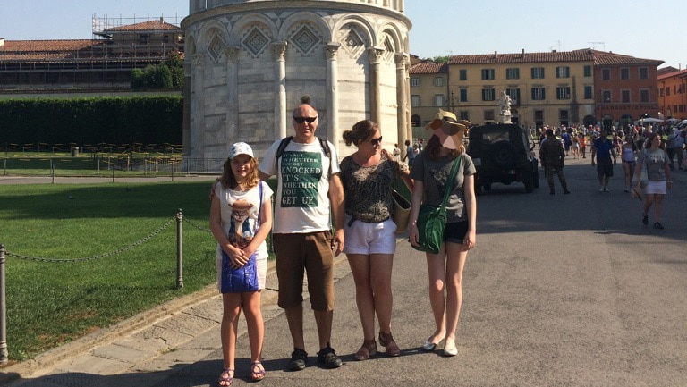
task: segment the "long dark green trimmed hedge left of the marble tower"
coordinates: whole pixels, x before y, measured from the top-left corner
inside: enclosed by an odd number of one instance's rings
[[[0,101],[0,146],[182,144],[183,97]]]

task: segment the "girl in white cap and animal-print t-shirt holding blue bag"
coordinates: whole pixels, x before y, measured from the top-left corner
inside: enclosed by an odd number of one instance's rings
[[[222,292],[221,341],[224,370],[218,384],[229,386],[234,377],[236,339],[241,310],[246,316],[250,342],[250,380],[265,377],[262,343],[265,326],[260,310],[260,290],[265,289],[267,244],[272,228],[272,189],[258,178],[253,150],[244,142],[229,149],[222,176],[213,187],[210,231],[217,241],[217,286]],[[250,266],[254,281],[231,287],[230,272]],[[239,289],[242,288],[242,289]],[[250,288],[250,290],[248,290]]]

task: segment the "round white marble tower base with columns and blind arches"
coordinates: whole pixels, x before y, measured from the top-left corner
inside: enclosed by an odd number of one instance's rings
[[[404,0],[190,0],[185,31],[184,150],[225,158],[236,141],[262,156],[293,134],[309,96],[318,136],[340,156],[343,130],[379,122],[391,150],[410,137]]]

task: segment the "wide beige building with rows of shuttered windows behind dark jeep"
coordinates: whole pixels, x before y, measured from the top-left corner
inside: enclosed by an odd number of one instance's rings
[[[511,98],[511,121],[527,128],[593,122],[594,57],[589,50],[456,55],[449,62],[454,112],[472,123],[499,122],[498,100]]]

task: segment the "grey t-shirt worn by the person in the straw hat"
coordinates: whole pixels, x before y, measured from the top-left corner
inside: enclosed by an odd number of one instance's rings
[[[411,178],[423,183],[423,204],[441,206],[441,201],[444,199],[446,181],[451,174],[453,164],[453,158],[442,156],[433,160],[425,150],[422,150],[420,155],[415,158],[415,161],[412,163]],[[464,206],[465,197],[462,191],[462,183],[465,181],[465,176],[475,174],[476,172],[477,170],[475,169],[475,164],[472,163],[471,157],[463,153],[461,165],[455,175],[453,189],[446,203],[446,222],[456,223],[468,220],[467,210]]]

